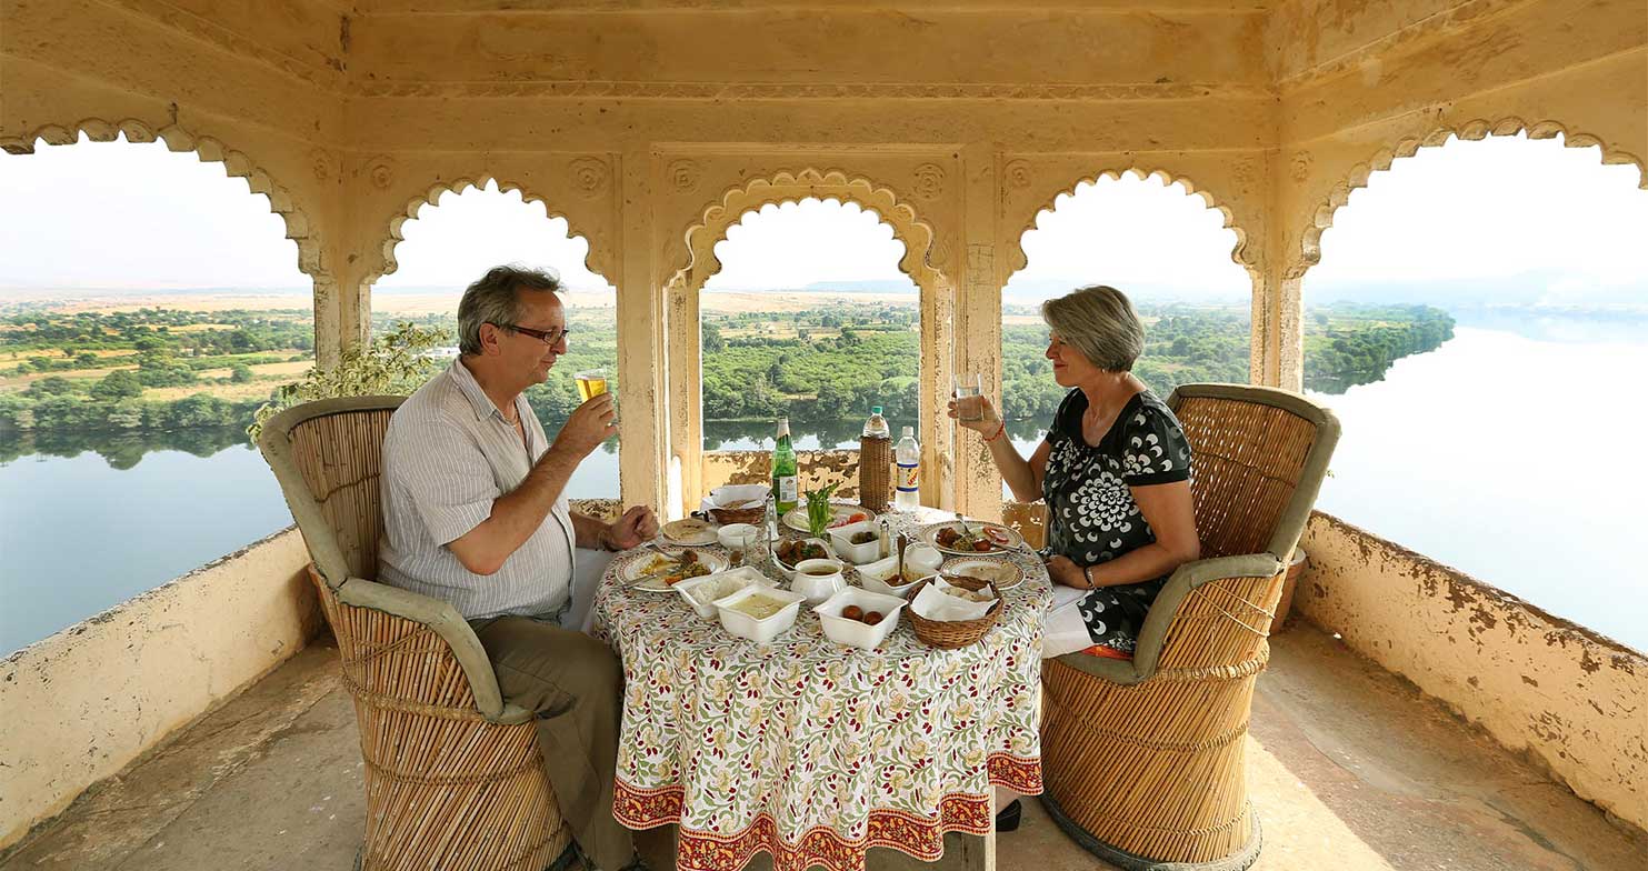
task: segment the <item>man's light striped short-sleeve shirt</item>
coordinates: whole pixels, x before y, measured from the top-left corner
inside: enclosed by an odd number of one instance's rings
[[[516,413],[526,443],[461,359],[400,403],[384,435],[379,581],[445,599],[466,619],[565,608],[574,548],[565,496],[493,575],[475,575],[447,548],[549,449],[526,397],[516,397]]]

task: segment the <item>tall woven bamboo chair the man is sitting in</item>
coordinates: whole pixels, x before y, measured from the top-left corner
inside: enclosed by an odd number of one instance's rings
[[[310,402],[259,438],[315,565],[366,761],[366,871],[539,871],[572,833],[532,715],[504,705],[486,650],[452,604],[371,581],[377,476],[402,397]]]

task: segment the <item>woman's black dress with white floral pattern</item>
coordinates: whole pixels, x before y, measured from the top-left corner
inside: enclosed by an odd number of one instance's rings
[[[1042,496],[1048,504],[1045,557],[1078,566],[1106,563],[1155,542],[1131,487],[1190,479],[1190,441],[1173,412],[1150,390],[1134,394],[1098,446],[1081,436],[1088,397],[1071,390],[1046,433],[1051,453]],[[1144,617],[1167,576],[1104,586],[1081,598],[1093,644],[1132,654]]]

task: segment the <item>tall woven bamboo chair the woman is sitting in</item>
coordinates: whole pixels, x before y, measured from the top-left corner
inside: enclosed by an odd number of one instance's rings
[[[1168,407],[1193,451],[1203,558],[1167,581],[1132,662],[1045,664],[1042,800],[1119,868],[1243,869],[1261,846],[1244,756],[1252,687],[1340,426],[1269,387],[1187,384]]]

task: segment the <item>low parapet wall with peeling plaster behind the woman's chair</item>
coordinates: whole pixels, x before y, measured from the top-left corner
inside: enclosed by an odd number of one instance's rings
[[[1648,828],[1648,657],[1315,514],[1294,609]]]

